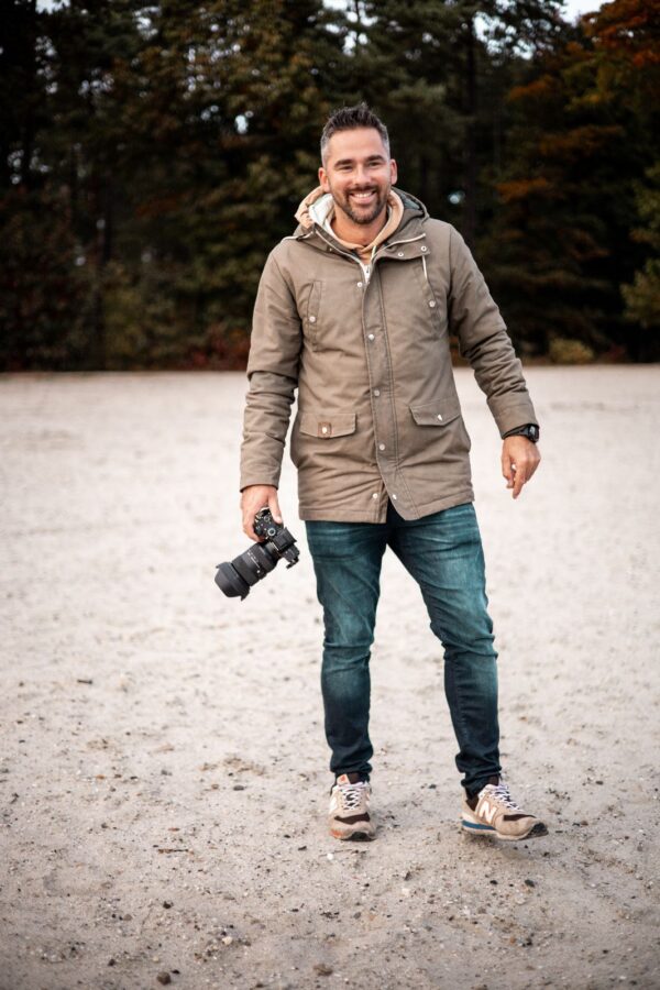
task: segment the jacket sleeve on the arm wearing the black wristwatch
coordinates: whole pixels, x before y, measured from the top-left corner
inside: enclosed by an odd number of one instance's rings
[[[497,305],[461,234],[450,231],[450,332],[474,370],[499,435],[538,419]]]

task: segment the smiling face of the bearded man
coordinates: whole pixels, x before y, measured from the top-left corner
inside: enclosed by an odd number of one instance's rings
[[[383,212],[396,175],[396,162],[375,128],[338,131],[319,168],[323,191],[331,193],[337,209],[360,224],[373,223]]]

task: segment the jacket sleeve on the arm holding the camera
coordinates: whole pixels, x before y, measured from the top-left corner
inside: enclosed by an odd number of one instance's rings
[[[241,491],[277,485],[302,342],[293,293],[272,253],[262,273],[250,341]]]

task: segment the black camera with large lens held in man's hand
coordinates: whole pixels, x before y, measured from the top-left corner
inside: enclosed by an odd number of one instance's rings
[[[231,563],[218,564],[216,584],[229,598],[240,595],[242,601],[248,597],[252,585],[265,578],[280,557],[289,561],[287,569],[298,563],[300,551],[294,546],[296,540],[288,529],[275,521],[270,509],[258,510],[254,517],[254,531],[262,537],[263,543],[253,543]]]

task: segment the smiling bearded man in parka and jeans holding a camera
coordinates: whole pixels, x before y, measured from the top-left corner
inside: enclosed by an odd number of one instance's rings
[[[297,387],[292,459],[324,617],[330,833],[375,835],[369,661],[389,546],[444,647],[462,827],[514,840],[542,835],[546,826],[517,807],[502,779],[497,654],[449,334],[504,438],[514,498],[539,463],[520,363],[461,235],[393,188],[387,130],[364,103],[329,119],[321,161],[320,187],[300,205],[294,235],[271,253],[258,288],[241,507],[252,539],[263,506],[282,521],[277,485]]]

